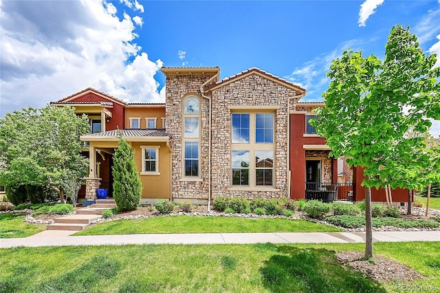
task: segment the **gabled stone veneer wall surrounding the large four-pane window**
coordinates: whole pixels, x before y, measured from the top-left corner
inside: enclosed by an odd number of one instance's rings
[[[167,88],[168,90],[168,88]],[[212,197],[230,195],[234,197],[287,197],[287,100],[296,96],[289,89],[257,74],[245,76],[212,92]],[[231,110],[229,105],[274,106],[275,125],[275,180],[279,191],[230,191],[231,187]],[[272,111],[272,110],[271,110]],[[243,109],[245,112],[245,109]],[[252,131],[252,130],[251,130]],[[252,159],[251,159],[252,160]],[[273,188],[272,188],[273,189]]]

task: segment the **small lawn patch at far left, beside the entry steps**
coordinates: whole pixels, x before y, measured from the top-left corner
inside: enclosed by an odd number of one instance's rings
[[[24,222],[25,215],[21,213],[0,214],[0,238],[28,237],[46,230],[45,225]]]

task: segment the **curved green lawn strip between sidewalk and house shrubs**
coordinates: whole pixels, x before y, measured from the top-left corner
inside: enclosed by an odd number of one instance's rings
[[[337,232],[338,228],[293,219],[168,216],[117,220],[92,226],[75,235],[220,232]]]

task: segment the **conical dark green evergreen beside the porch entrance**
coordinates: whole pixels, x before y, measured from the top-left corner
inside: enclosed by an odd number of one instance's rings
[[[122,137],[113,155],[113,197],[120,210],[135,210],[140,206],[142,182],[136,170],[134,153]]]

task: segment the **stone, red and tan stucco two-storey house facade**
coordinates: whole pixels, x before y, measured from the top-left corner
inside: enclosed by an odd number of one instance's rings
[[[210,204],[222,195],[364,198],[362,170],[353,169],[338,183],[343,161],[329,156],[325,139],[309,124],[318,118],[312,110],[324,104],[300,102],[303,87],[258,68],[222,80],[219,67],[162,72],[164,104],[126,103],[90,88],[52,103],[71,105],[91,120],[92,133],[81,137],[90,159],[86,199],[96,197],[96,188],[112,193],[119,135],[135,151],[144,204],[157,199]],[[373,200],[382,201],[384,191],[376,193]],[[408,191],[393,191],[393,199],[407,202]]]

